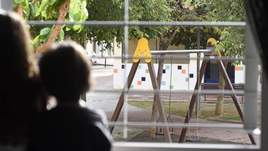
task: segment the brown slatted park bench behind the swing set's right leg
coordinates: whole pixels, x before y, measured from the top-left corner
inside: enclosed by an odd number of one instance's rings
[[[201,83],[201,85],[200,85],[200,89],[201,90],[218,90],[218,83]],[[239,91],[239,90],[244,90],[244,88],[245,88],[245,84],[244,83],[239,83],[239,84],[237,84],[237,83],[232,83],[232,85],[233,85],[233,88],[234,88],[234,90],[235,91]],[[224,85],[224,90],[228,90],[228,88],[227,88],[227,85],[225,84]],[[206,95],[217,95],[217,94],[215,94],[215,93],[202,93],[202,91],[201,91],[201,93],[200,93],[200,95],[204,95],[205,96],[205,101],[206,101]],[[231,96],[231,94],[224,94],[224,95],[229,95],[229,96]],[[243,101],[243,94],[237,94],[238,96],[242,96],[242,101]]]

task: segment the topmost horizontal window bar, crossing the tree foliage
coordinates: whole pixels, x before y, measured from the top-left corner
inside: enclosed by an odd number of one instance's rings
[[[26,21],[29,25],[86,25],[86,26],[235,26],[244,27],[246,22],[199,22],[199,21],[84,21],[84,22],[65,22],[65,21]]]

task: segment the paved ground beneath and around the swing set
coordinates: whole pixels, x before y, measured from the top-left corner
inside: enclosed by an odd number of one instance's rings
[[[93,89],[113,89],[113,74],[112,74],[113,67],[104,68],[104,66],[93,66],[92,68],[92,75],[95,78],[95,86]],[[111,120],[111,116],[115,110],[115,106],[117,105],[118,99],[120,97],[120,92],[88,92],[86,94],[87,98],[87,106],[91,106],[94,108],[98,108],[104,110],[107,115],[108,121]],[[142,96],[148,96],[145,99]],[[150,96],[150,97],[149,97]],[[163,98],[169,98],[169,94],[167,96],[163,96]],[[176,98],[176,96],[174,96]],[[180,96],[186,97],[186,96]],[[136,99],[133,99],[136,98]],[[129,94],[128,97],[129,101],[144,101],[144,100],[152,100],[153,94],[142,94],[142,93],[132,93]],[[163,99],[166,101],[167,99]],[[175,99],[172,99],[175,102]],[[178,102],[178,100],[176,101]],[[130,102],[131,104],[131,102]],[[166,104],[166,102],[165,102]],[[151,111],[142,109],[140,107],[127,105],[128,107],[128,121],[135,121],[135,122],[150,122],[151,119]],[[202,105],[201,105],[202,108]],[[187,109],[185,109],[187,110]],[[201,110],[205,112],[206,110]],[[234,108],[234,112],[235,112]],[[167,112],[166,112],[167,113]],[[182,113],[183,114],[183,113]],[[186,115],[186,111],[185,111]],[[184,116],[185,116],[184,115]],[[167,115],[166,115],[167,116]],[[173,122],[184,122],[185,117],[183,116],[176,116],[171,115]],[[118,121],[123,121],[123,110],[119,115]],[[196,119],[192,118],[191,122],[196,122]],[[210,121],[206,119],[200,119],[200,123],[218,123],[222,124],[224,122],[217,122],[217,121]],[[135,141],[135,142],[164,142],[163,136],[157,136],[157,138],[148,138],[148,127],[136,126],[136,127],[128,127],[128,137],[123,138],[122,126],[116,126],[115,130],[112,134],[114,141]],[[195,134],[195,128],[190,129],[191,134]],[[174,129],[175,135],[172,136],[173,141],[178,141],[179,134],[181,132],[181,128]],[[199,128],[199,135],[203,141],[200,143],[242,143],[242,144],[250,144],[250,140],[248,135],[242,129],[237,128]],[[260,142],[259,136],[255,136],[257,142]]]

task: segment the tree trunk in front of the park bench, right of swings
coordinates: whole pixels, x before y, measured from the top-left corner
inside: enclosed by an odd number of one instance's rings
[[[225,69],[227,67],[227,63],[228,63],[227,61],[223,61],[223,65]],[[224,85],[225,85],[225,82],[224,82],[223,76],[220,74],[218,90],[224,90]],[[223,99],[224,99],[224,94],[218,94],[217,102],[216,102],[216,110],[215,110],[216,115],[223,114]]]

